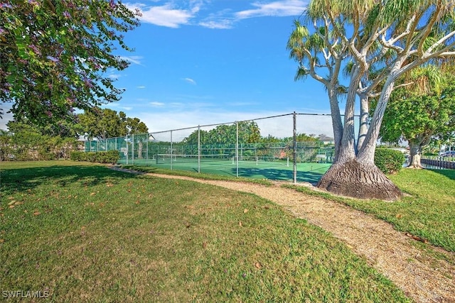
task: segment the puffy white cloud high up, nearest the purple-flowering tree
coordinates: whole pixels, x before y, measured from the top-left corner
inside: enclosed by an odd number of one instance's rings
[[[190,9],[174,9],[172,4],[163,6],[146,6],[145,4],[126,4],[134,11],[138,9],[142,16],[139,20],[152,23],[156,26],[166,26],[169,28],[178,28],[181,25],[188,24],[190,19],[198,13],[200,6],[194,5]]]

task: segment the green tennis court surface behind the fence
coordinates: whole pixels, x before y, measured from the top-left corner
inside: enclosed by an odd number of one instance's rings
[[[185,170],[198,172],[198,161],[195,159],[176,159],[172,162],[156,161],[155,159],[119,160],[119,164],[159,167],[167,170]],[[318,182],[322,175],[331,167],[331,163],[297,163],[297,182]],[[237,175],[238,171],[238,175]],[[293,163],[286,160],[274,161],[239,161],[234,160],[202,160],[200,172],[213,175],[229,175],[254,179],[277,181],[294,181]]]

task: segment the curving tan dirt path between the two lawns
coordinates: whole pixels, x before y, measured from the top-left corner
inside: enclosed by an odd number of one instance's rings
[[[446,256],[433,258],[412,246],[414,239],[396,231],[385,221],[326,199],[292,189],[259,184],[198,180],[191,177],[147,174],[154,177],[192,180],[228,189],[250,192],[269,199],[294,216],[323,228],[341,239],[358,255],[387,276],[415,302],[455,302],[455,254],[429,246]]]

